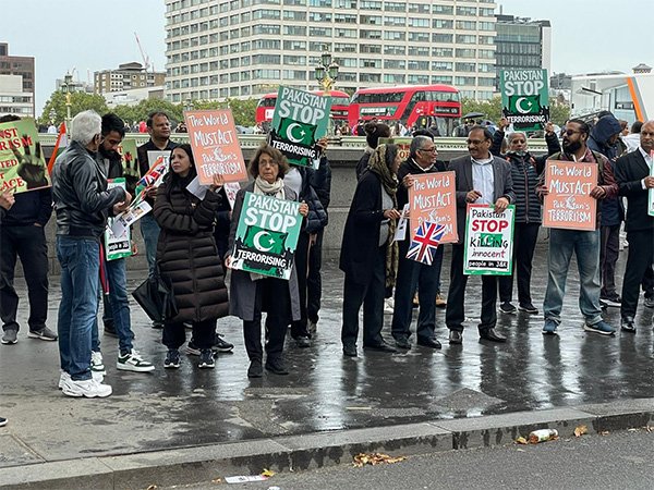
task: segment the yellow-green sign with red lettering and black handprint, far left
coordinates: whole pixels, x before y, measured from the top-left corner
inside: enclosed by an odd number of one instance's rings
[[[50,186],[33,119],[0,124],[0,191],[14,194]]]

